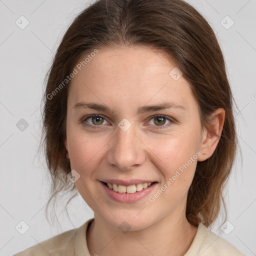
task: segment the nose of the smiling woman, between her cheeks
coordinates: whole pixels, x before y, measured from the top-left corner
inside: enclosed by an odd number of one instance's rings
[[[107,151],[108,164],[119,170],[130,170],[140,166],[145,161],[146,147],[132,125],[123,131],[117,127],[115,136],[111,139],[111,146]]]

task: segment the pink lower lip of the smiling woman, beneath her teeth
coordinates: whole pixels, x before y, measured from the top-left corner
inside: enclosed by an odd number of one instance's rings
[[[149,194],[152,189],[156,186],[157,182],[151,184],[147,188],[143,188],[140,191],[137,191],[135,193],[119,193],[115,192],[114,190],[110,189],[108,186],[106,186],[102,181],[100,181],[100,184],[103,186],[106,193],[115,201],[117,202],[135,202],[140,200],[141,198],[145,197],[147,194]]]

